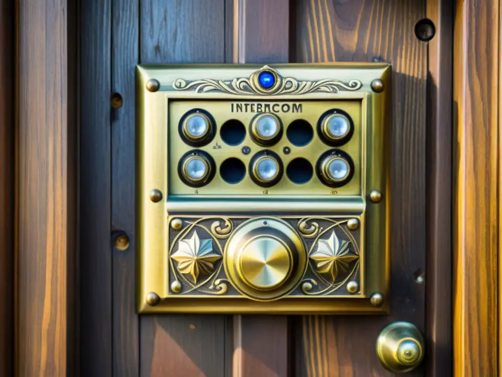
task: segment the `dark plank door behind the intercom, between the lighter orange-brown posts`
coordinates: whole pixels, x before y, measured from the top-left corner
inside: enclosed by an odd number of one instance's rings
[[[444,13],[449,5],[426,0],[82,2],[81,375],[392,375],[376,356],[375,340],[393,321],[409,321],[436,340],[427,344],[432,352],[426,362],[410,375],[451,373],[449,254],[435,254],[438,247],[449,247],[449,240],[442,241],[441,234],[428,239],[426,227],[428,210],[436,205],[433,199],[428,207],[427,199],[443,195],[442,187],[450,184],[440,177],[439,189],[427,191],[428,148],[434,148],[428,141],[434,126],[451,117],[449,111],[436,112],[450,98],[448,89],[430,80],[434,75],[445,80],[432,62],[451,64],[451,54],[435,44],[449,38],[451,14]],[[429,43],[420,40],[431,30],[419,23],[427,17],[440,31]],[[323,61],[393,65],[391,315],[138,316],[136,64]],[[445,97],[437,98],[438,92]],[[448,137],[443,138],[446,162]],[[446,214],[448,190],[442,203]],[[449,219],[444,224],[448,232]],[[429,279],[431,286],[424,284]]]

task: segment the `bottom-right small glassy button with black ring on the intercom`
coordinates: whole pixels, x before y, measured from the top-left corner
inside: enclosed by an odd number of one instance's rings
[[[354,164],[346,153],[334,149],[321,156],[317,163],[317,174],[324,184],[339,187],[352,178]]]

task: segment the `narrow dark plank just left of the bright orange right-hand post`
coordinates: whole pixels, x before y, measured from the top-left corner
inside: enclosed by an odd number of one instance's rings
[[[428,0],[436,35],[427,76],[426,375],[452,374],[451,211],[453,3]]]

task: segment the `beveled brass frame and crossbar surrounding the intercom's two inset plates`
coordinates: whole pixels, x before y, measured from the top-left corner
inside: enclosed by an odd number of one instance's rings
[[[257,86],[258,64],[139,65],[137,67],[137,288],[139,313],[388,313],[390,280],[390,126],[391,67],[380,63],[275,64],[278,83],[273,90]],[[279,72],[279,73],[277,73]],[[294,78],[293,78],[294,77]],[[335,79],[330,79],[334,77]],[[384,90],[371,88],[381,79]],[[361,195],[253,195],[232,197],[169,195],[168,103],[172,100],[227,101],[336,101],[361,102]],[[150,192],[163,193],[154,203]],[[368,193],[383,194],[379,203]],[[196,199],[196,200],[195,200]],[[243,297],[181,297],[170,292],[168,230],[172,216],[199,214],[248,217],[287,214],[333,216],[354,214],[364,224],[361,249],[363,270],[359,295],[285,297],[259,302]],[[201,215],[200,217],[203,217]],[[361,254],[362,255],[362,254]],[[158,305],[146,298],[155,293]],[[383,305],[372,305],[372,294],[382,294]],[[374,304],[375,301],[373,301]]]

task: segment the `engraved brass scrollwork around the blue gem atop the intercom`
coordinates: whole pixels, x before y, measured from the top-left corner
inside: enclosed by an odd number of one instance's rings
[[[267,70],[272,72],[277,84],[271,90],[263,89],[258,81],[260,72]],[[298,81],[292,77],[282,77],[279,72],[269,66],[264,66],[252,73],[248,78],[234,78],[232,80],[201,79],[186,81],[182,78],[173,82],[176,90],[195,90],[195,92],[207,92],[211,90],[222,91],[231,95],[303,95],[313,92],[338,93],[340,89],[358,90],[362,82],[357,79],[347,83],[335,79],[322,79],[318,81]]]

